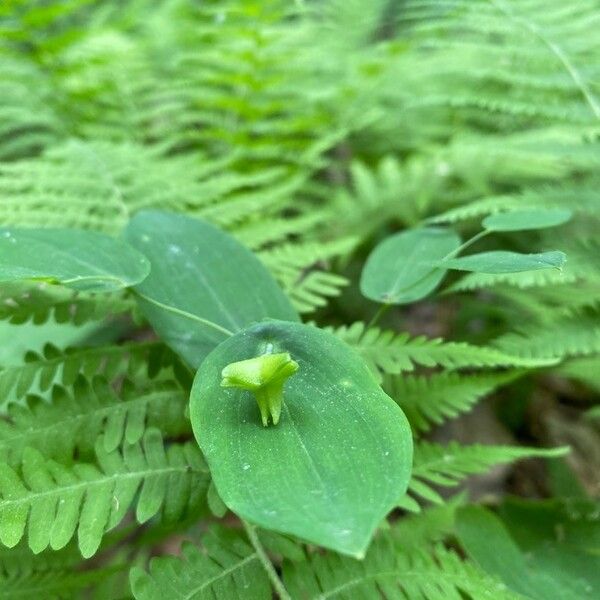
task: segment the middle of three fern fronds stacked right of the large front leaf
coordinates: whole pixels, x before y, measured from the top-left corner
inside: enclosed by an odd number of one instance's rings
[[[442,372],[429,377],[395,375],[387,376],[383,387],[400,405],[413,430],[421,433],[468,412],[481,398],[520,375],[519,371],[474,375]]]

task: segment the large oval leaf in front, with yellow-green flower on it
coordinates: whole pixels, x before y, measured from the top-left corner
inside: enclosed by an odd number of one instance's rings
[[[277,425],[251,392],[221,387],[232,362],[288,352],[299,365]],[[191,394],[194,434],[225,504],[267,529],[361,557],[406,490],[404,413],[342,341],[310,325],[265,321],[218,346]]]

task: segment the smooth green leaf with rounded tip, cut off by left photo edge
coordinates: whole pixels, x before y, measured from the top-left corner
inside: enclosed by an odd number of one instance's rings
[[[37,279],[111,292],[146,278],[150,264],[121,240],[79,229],[0,229],[0,281]]]

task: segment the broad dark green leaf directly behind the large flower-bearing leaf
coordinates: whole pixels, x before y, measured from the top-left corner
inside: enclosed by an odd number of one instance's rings
[[[152,265],[150,276],[135,287],[144,315],[193,367],[251,323],[266,317],[298,320],[254,254],[205,221],[143,211],[125,235]]]

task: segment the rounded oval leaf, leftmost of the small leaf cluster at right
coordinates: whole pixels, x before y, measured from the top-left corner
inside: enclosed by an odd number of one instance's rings
[[[460,246],[450,229],[427,227],[386,238],[369,255],[360,278],[364,296],[385,304],[408,304],[442,281],[444,257]],[[444,263],[445,265],[445,263]]]

